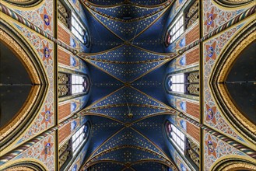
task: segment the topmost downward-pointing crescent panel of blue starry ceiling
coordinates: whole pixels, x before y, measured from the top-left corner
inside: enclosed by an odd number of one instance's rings
[[[141,19],[139,21],[124,23],[121,21],[116,21],[114,19],[109,19],[105,16],[102,16],[96,12],[93,12],[91,9],[89,11],[106,26],[109,30],[112,30],[118,37],[121,37],[123,40],[130,40],[135,37],[138,33],[141,33],[143,30],[146,30],[147,27],[151,26],[153,22],[160,17],[163,12],[158,12],[153,16],[150,16],[146,19]]]

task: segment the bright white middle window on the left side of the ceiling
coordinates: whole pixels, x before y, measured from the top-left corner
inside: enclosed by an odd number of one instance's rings
[[[82,75],[71,75],[71,93],[72,95],[82,93],[86,89],[83,84],[86,80]]]

